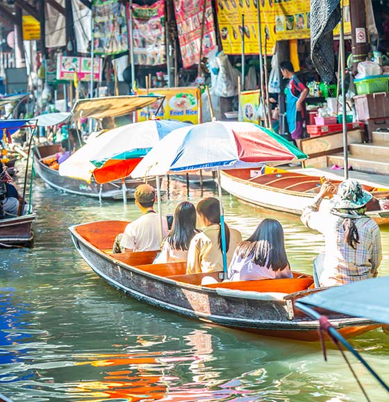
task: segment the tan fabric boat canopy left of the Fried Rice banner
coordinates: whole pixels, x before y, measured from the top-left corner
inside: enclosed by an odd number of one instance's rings
[[[135,112],[135,110],[145,108],[154,102],[158,102],[159,106],[162,99],[163,97],[135,95],[80,99],[73,107],[72,118],[93,117],[94,119],[103,119],[104,117],[124,116]],[[158,106],[156,106],[156,108],[158,108]]]

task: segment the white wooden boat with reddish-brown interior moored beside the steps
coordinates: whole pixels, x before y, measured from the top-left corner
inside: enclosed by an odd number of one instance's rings
[[[331,180],[338,185],[341,181]],[[319,192],[322,182],[318,176],[308,176],[294,171],[259,174],[255,169],[232,169],[221,172],[222,188],[241,201],[255,206],[301,215]],[[362,187],[374,196],[367,204],[367,215],[377,224],[389,224],[389,210],[381,210],[379,199],[389,198],[389,189],[370,185]],[[329,209],[329,199],[320,208]]]

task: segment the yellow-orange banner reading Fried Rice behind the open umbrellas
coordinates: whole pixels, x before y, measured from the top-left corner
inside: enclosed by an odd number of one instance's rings
[[[160,119],[173,119],[192,124],[201,123],[201,92],[197,87],[161,88],[156,90],[138,90],[138,95],[156,95],[165,97],[158,112]],[[147,108],[138,110],[137,122],[151,119],[158,110],[160,101],[155,101]]]

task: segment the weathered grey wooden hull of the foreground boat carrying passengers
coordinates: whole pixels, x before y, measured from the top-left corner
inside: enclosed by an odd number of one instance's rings
[[[163,277],[145,271],[145,268],[128,265],[86,241],[77,232],[77,226],[69,230],[76,249],[94,272],[134,299],[186,317],[261,335],[309,341],[318,339],[318,321],[308,319],[293,308],[293,301],[305,296],[306,292],[284,297],[192,285],[174,279],[174,276]],[[341,315],[333,316],[331,323],[345,336],[376,328],[370,320]]]

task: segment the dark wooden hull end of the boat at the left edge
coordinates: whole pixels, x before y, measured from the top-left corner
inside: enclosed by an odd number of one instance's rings
[[[0,219],[0,247],[31,246],[35,214]]]

